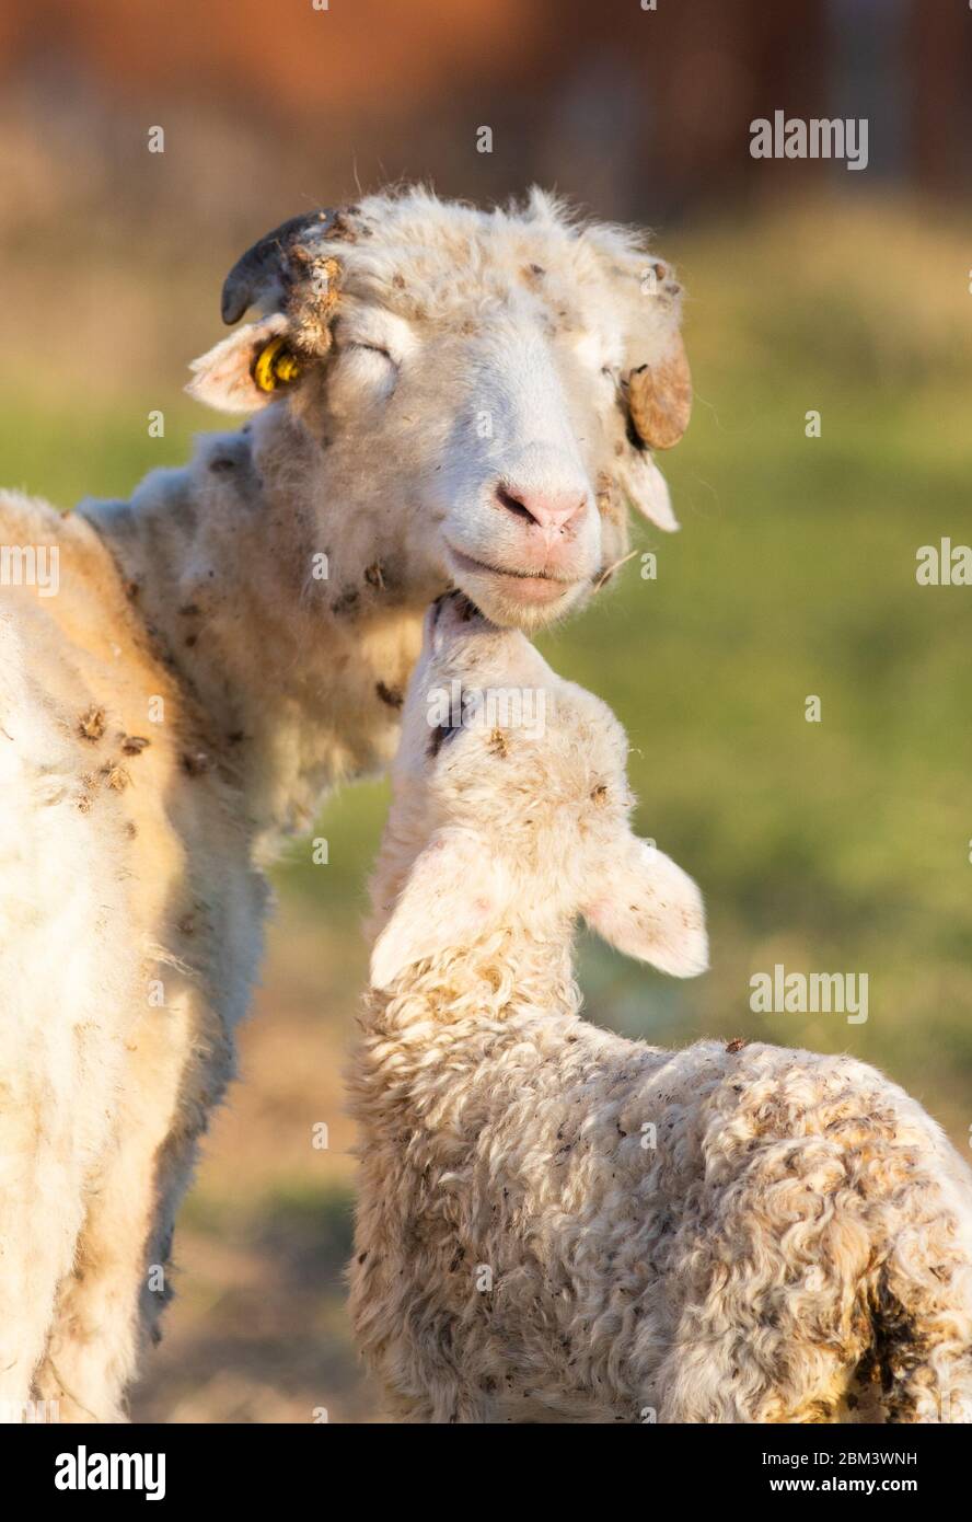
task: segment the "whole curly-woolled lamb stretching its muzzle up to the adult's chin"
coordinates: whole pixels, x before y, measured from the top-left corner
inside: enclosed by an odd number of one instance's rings
[[[543,737],[432,729],[453,682],[543,693]],[[972,1420],[972,1173],[922,1106],[850,1056],[580,1017],[578,912],[666,973],[707,957],[625,750],[522,633],[430,610],[350,1075],[351,1313],[389,1411]]]

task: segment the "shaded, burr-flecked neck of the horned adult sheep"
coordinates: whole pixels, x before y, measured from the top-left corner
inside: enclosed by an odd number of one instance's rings
[[[321,499],[310,447],[286,414],[262,419],[260,431],[204,437],[186,469],[152,472],[131,502],[81,508],[205,717],[214,764],[239,779],[259,861],[312,823],[330,787],[389,761],[423,610],[443,589],[382,575],[406,559],[394,513],[362,533],[345,499]],[[322,552],[329,575],[315,580]]]

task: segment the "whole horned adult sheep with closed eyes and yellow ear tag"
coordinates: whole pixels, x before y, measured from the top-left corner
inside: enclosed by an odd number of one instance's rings
[[[429,600],[538,627],[625,498],[677,527],[680,291],[639,236],[376,195],[260,239],[224,317],[253,304],[190,387],[245,426],[129,502],[0,496],[0,1414],[123,1419],[263,868],[389,759]]]

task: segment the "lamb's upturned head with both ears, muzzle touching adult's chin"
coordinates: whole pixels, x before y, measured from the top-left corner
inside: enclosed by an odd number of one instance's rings
[[[578,913],[666,973],[704,971],[700,892],[633,834],[625,759],[610,709],[520,632],[462,594],[434,604],[392,770],[397,903],[374,948],[376,986],[496,930],[563,939]]]

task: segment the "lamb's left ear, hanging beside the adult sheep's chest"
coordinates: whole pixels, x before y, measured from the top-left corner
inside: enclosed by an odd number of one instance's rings
[[[499,868],[482,842],[443,829],[415,858],[371,953],[371,986],[386,989],[414,962],[467,945],[500,907]]]

